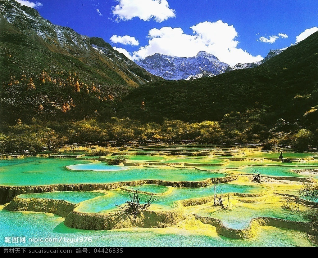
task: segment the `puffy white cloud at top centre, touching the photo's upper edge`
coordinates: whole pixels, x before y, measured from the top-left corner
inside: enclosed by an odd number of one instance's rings
[[[169,8],[166,0],[117,0],[118,5],[114,7],[113,14],[117,20],[131,20],[139,17],[141,20],[154,19],[162,22],[170,17],[176,17],[174,11]]]

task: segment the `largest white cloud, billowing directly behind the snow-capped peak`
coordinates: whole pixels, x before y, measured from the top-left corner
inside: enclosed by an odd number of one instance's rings
[[[133,59],[144,59],[155,53],[178,57],[193,57],[199,51],[206,51],[215,55],[222,62],[229,65],[237,63],[252,63],[263,58],[256,57],[237,48],[238,36],[232,25],[217,21],[203,22],[192,26],[193,35],[188,35],[181,28],[163,27],[149,31],[150,38],[147,46],[142,46],[133,52]]]

